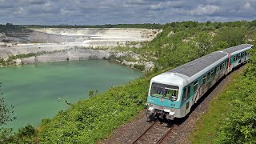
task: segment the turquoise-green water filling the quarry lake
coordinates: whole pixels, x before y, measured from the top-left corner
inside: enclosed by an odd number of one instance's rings
[[[104,60],[50,62],[0,69],[3,97],[14,106],[17,119],[7,122],[14,130],[27,124],[38,126],[52,118],[67,102],[88,98],[89,90],[102,93],[130,82],[141,72]],[[60,100],[59,100],[60,99]]]

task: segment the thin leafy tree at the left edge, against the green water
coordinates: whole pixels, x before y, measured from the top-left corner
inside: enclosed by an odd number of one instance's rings
[[[3,98],[2,83],[0,83],[0,126],[5,125],[6,122],[13,121],[14,117],[14,106],[7,106]]]

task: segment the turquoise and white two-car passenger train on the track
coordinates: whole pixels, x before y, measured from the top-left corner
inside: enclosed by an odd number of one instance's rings
[[[242,44],[218,50],[151,78],[147,118],[185,117],[220,78],[248,61],[248,50],[252,48],[253,45]]]

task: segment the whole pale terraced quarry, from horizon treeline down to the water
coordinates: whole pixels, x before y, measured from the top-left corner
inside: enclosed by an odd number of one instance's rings
[[[138,54],[120,52],[111,48],[134,46],[151,41],[161,30],[135,28],[38,28],[22,32],[0,33],[0,58],[7,61],[11,56],[34,54],[26,58],[14,58],[15,65],[35,62],[60,62],[72,60],[108,59]],[[133,43],[133,45],[130,45]],[[10,60],[9,60],[10,61]],[[127,62],[114,60],[133,67],[143,65],[146,70],[153,62]]]

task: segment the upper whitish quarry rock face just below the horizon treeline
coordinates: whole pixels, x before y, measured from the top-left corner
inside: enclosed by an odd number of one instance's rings
[[[126,42],[150,41],[158,32],[159,30],[150,29],[45,28],[26,31],[24,34],[12,34],[12,37],[0,34],[0,41],[10,40],[10,43],[3,42],[1,44],[0,58],[7,59],[11,55],[42,51],[69,50],[75,47],[125,46]]]

